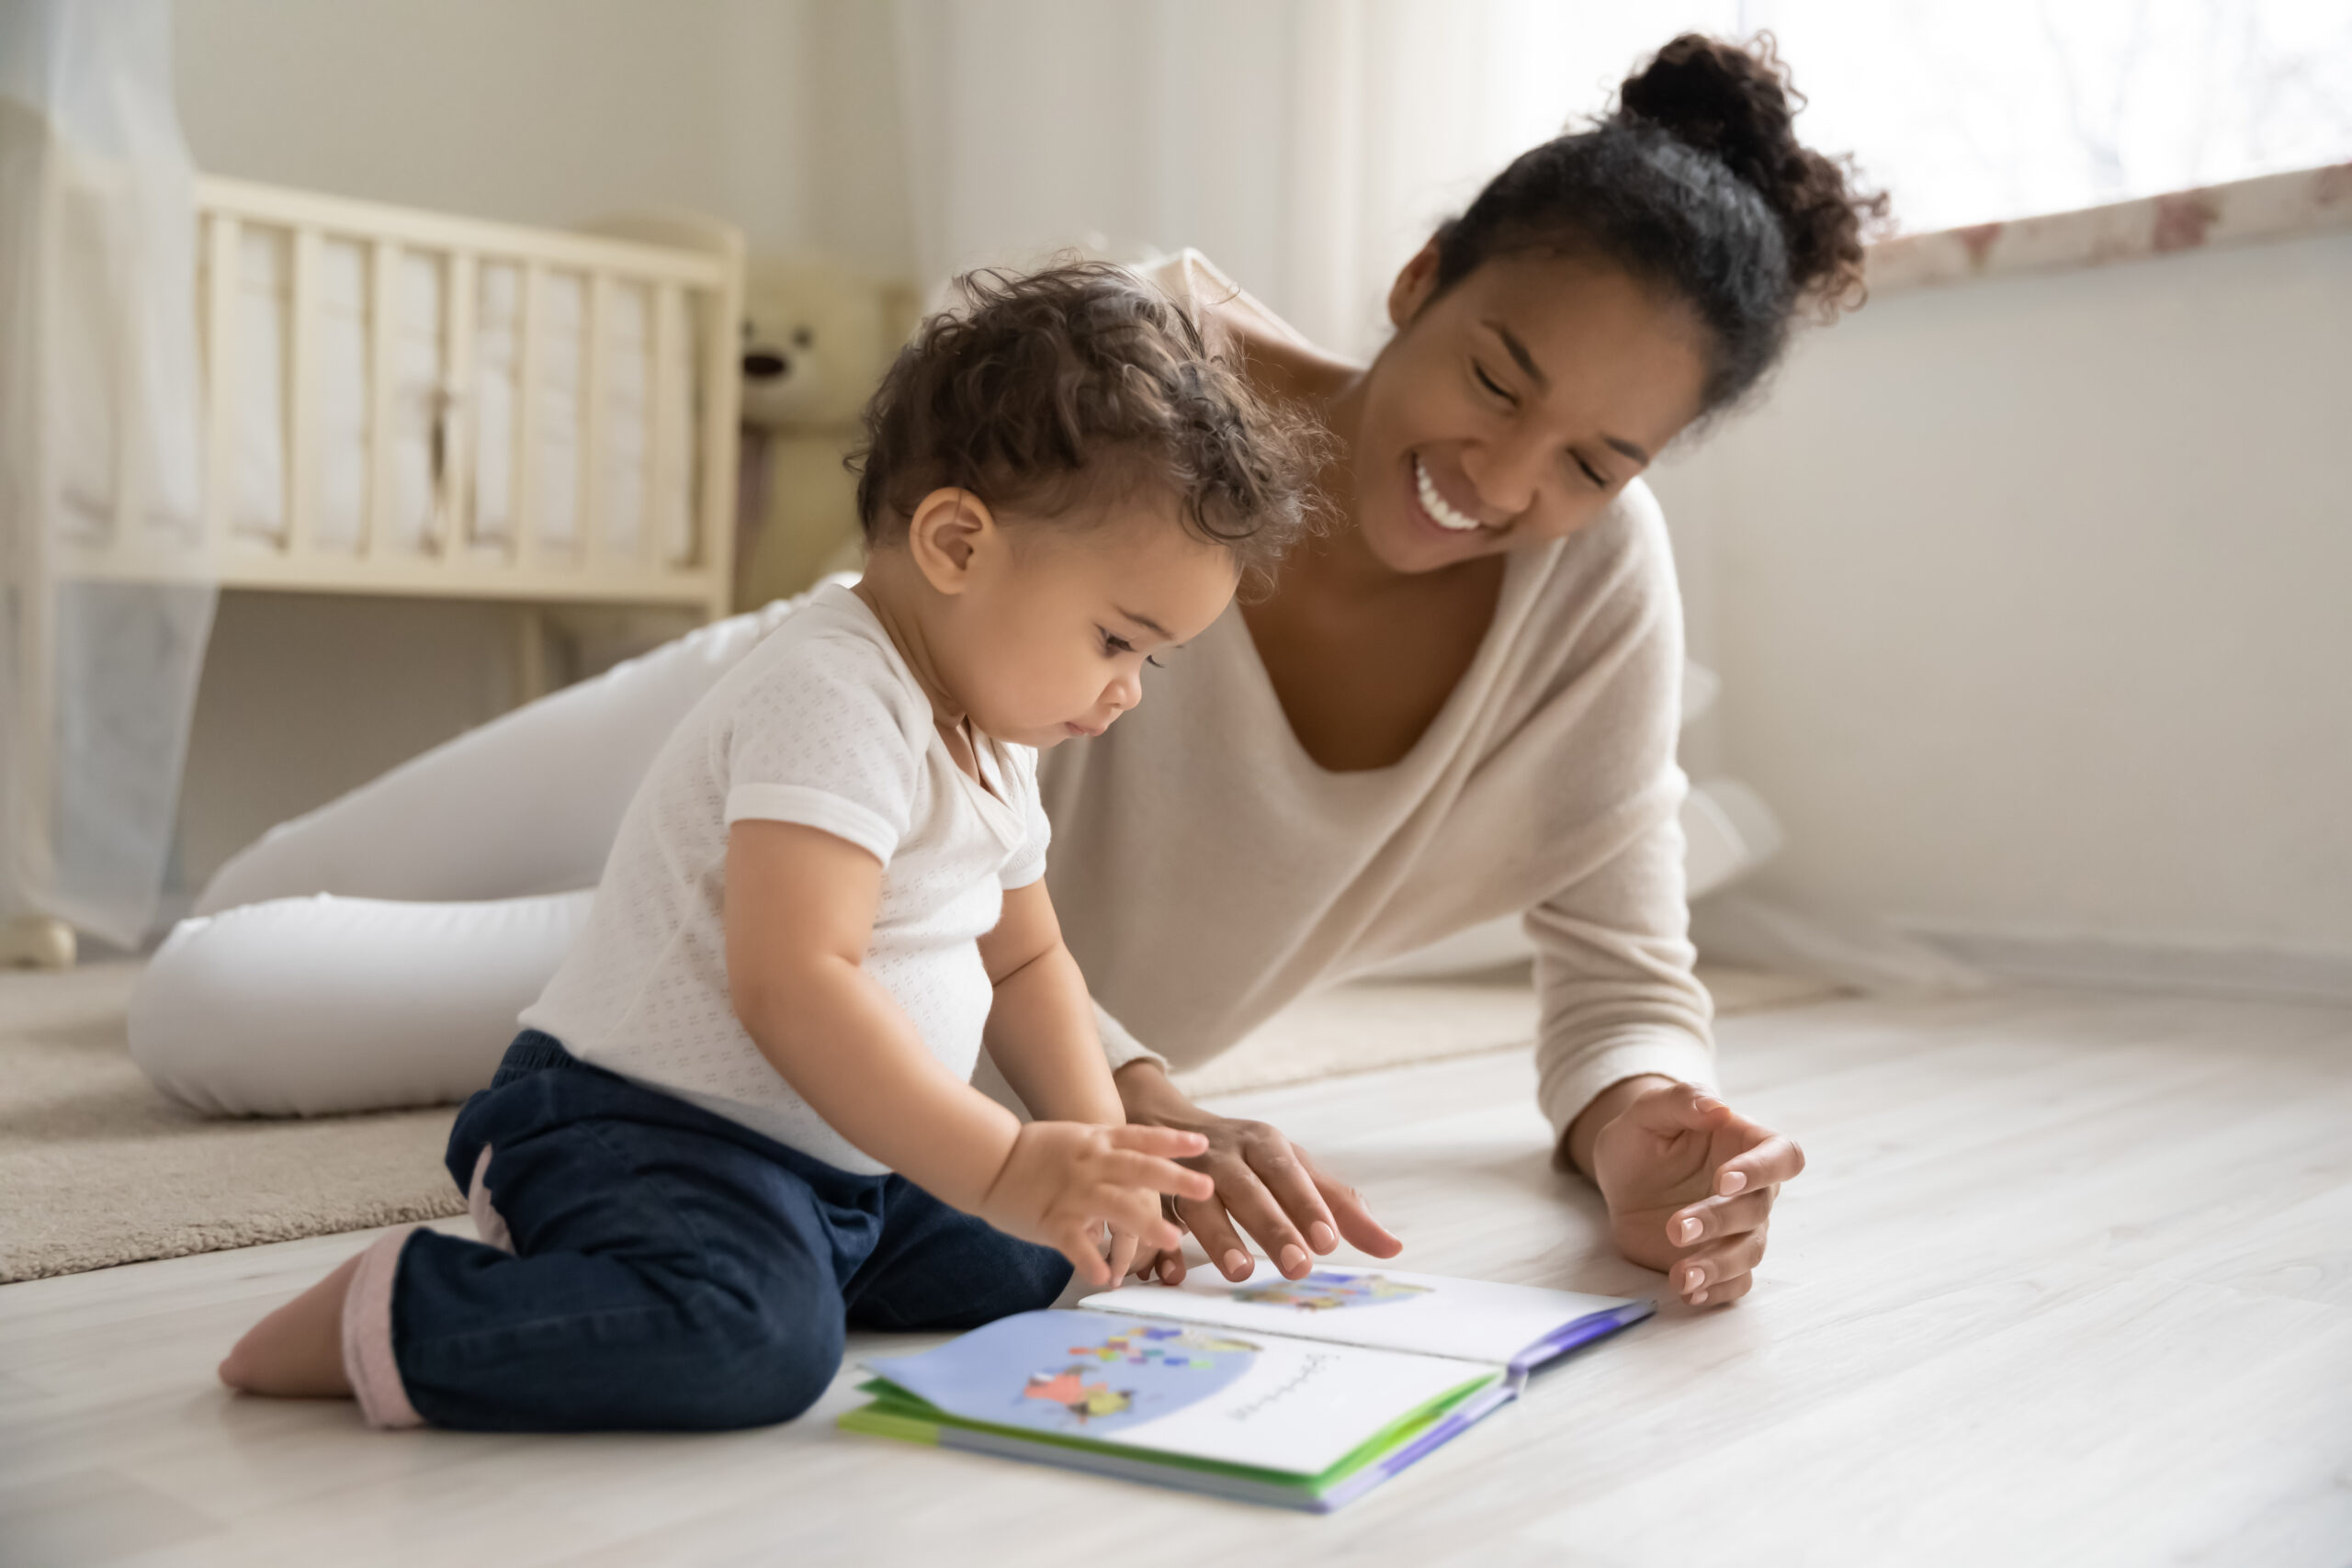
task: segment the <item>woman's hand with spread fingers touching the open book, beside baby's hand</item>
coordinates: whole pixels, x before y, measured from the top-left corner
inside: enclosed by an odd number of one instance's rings
[[[1374,1258],[1395,1258],[1404,1244],[1388,1234],[1355,1187],[1327,1175],[1305,1150],[1263,1121],[1214,1117],[1192,1105],[1152,1060],[1120,1067],[1115,1084],[1127,1121],[1202,1133],[1209,1150],[1181,1164],[1207,1171],[1216,1194],[1178,1197],[1174,1215],[1202,1244],[1225,1279],[1249,1279],[1256,1260],[1242,1237],[1254,1239],[1284,1279],[1315,1267],[1315,1253],[1345,1241]],[[1136,1272],[1162,1284],[1183,1284],[1183,1253],[1143,1253]]]

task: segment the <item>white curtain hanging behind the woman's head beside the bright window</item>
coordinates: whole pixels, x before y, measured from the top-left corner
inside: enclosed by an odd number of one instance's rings
[[[1736,0],[898,0],[924,284],[1068,244],[1207,252],[1369,353],[1430,228]]]

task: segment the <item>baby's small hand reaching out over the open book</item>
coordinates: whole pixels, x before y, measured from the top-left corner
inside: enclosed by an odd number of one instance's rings
[[[1103,1227],[1124,1239],[1122,1251],[1181,1246],[1183,1234],[1160,1213],[1160,1194],[1216,1192],[1214,1180],[1176,1164],[1207,1147],[1200,1133],[1164,1126],[1030,1121],[978,1213],[1011,1237],[1051,1246],[1087,1284],[1117,1284],[1127,1269],[1112,1272],[1103,1258]]]

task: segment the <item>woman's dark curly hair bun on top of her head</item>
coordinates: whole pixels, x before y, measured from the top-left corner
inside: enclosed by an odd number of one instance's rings
[[[1863,226],[1886,216],[1886,195],[1860,190],[1851,160],[1797,141],[1802,106],[1771,33],[1745,47],[1684,33],[1625,78],[1613,120],[1653,125],[1755,186],[1780,216],[1797,292],[1837,313],[1860,303]]]

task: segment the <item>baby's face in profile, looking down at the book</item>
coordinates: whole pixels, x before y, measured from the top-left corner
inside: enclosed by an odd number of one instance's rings
[[[1021,745],[1098,736],[1143,701],[1143,668],[1209,630],[1240,583],[1174,503],[1094,527],[1009,520],[955,625],[957,696],[974,726]]]

